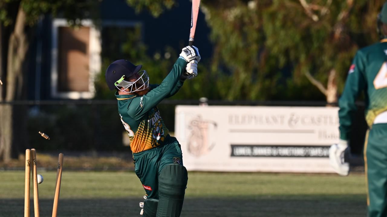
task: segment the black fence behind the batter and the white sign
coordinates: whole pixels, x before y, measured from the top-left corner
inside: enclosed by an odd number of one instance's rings
[[[175,131],[175,106],[199,105],[199,100],[163,100],[158,108],[164,123]],[[310,101],[224,101],[208,100],[208,105],[265,105],[265,106],[327,106],[326,102]],[[26,144],[17,144],[19,151],[35,147],[41,151],[120,151],[127,150],[123,145],[124,128],[117,110],[116,100],[50,100],[50,101],[12,101],[0,102],[0,107],[13,105],[16,111],[27,111],[26,129],[21,136]],[[334,105],[333,105],[334,106]],[[20,109],[24,108],[24,109]],[[365,132],[364,104],[358,103],[354,117],[351,151],[361,154]],[[19,119],[20,120],[20,119]],[[45,140],[38,132],[50,136]]]

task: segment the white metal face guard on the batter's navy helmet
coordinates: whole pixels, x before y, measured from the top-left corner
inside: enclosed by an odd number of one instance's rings
[[[140,90],[145,90],[149,86],[149,76],[145,70],[139,71],[140,77],[135,81],[125,81],[125,75],[123,75],[114,85],[125,93],[133,93]]]

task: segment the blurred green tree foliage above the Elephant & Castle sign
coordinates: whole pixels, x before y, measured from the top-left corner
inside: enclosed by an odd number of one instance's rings
[[[155,16],[176,4],[173,0],[127,2]],[[207,66],[212,83],[228,100],[316,99],[319,90],[328,103],[335,103],[356,50],[378,39],[374,29],[382,3],[202,1],[200,10],[214,43]]]

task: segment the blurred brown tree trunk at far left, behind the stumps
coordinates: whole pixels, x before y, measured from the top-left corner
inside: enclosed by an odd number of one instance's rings
[[[23,66],[29,48],[26,34],[26,14],[19,7],[14,31],[10,35],[7,53],[7,78],[4,79],[5,101],[23,100],[26,97]],[[4,90],[4,89],[3,89]],[[22,105],[0,105],[0,160],[17,157],[26,138],[27,109]],[[23,145],[22,145],[23,144]]]

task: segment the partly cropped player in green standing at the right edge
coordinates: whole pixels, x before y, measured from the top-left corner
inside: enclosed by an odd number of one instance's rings
[[[348,175],[344,162],[355,100],[365,93],[366,122],[369,130],[364,145],[369,217],[387,216],[387,3],[378,15],[381,41],[360,49],[348,71],[344,92],[339,99],[340,142],[330,147],[329,158],[334,170]]]

